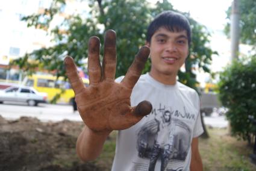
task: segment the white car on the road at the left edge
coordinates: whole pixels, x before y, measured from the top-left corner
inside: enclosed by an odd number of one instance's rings
[[[37,92],[33,87],[11,86],[0,90],[0,104],[4,101],[27,102],[30,106],[36,106],[39,103],[47,103],[47,94]]]

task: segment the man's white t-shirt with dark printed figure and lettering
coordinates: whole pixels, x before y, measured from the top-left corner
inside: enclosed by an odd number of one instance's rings
[[[151,102],[152,111],[136,125],[119,131],[112,171],[142,171],[149,166],[189,170],[192,138],[203,132],[198,94],[180,82],[164,85],[146,73],[133,89],[131,106],[145,100]]]

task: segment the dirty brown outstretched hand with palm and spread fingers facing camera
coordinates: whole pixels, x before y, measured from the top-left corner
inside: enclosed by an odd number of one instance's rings
[[[143,46],[122,82],[114,81],[116,73],[116,33],[105,34],[104,58],[99,61],[99,38],[89,40],[89,87],[85,87],[78,75],[71,57],[64,60],[66,74],[75,92],[75,101],[80,116],[88,128],[95,132],[107,132],[130,128],[143,116],[149,114],[152,105],[148,101],[131,107],[130,96],[138,81],[149,55],[149,48]]]

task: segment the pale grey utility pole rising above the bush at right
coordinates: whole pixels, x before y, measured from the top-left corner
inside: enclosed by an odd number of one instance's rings
[[[232,11],[231,11],[231,58],[232,60],[239,56],[239,0],[233,0]]]

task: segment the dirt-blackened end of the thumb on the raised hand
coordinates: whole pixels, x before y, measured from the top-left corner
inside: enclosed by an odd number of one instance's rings
[[[146,116],[151,113],[152,105],[149,101],[140,102],[134,109],[135,116]]]

